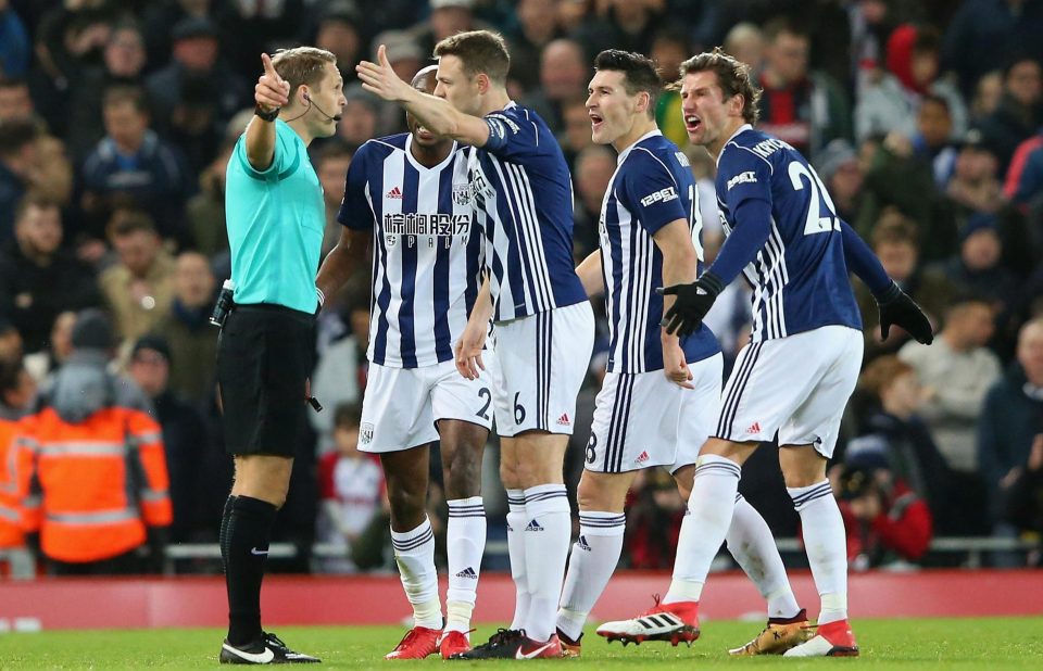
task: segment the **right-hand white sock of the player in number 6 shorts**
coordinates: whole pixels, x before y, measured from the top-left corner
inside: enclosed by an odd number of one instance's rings
[[[525,572],[529,583],[529,612],[522,629],[533,641],[554,633],[557,600],[562,596],[573,521],[564,484],[538,484],[525,490]]]

